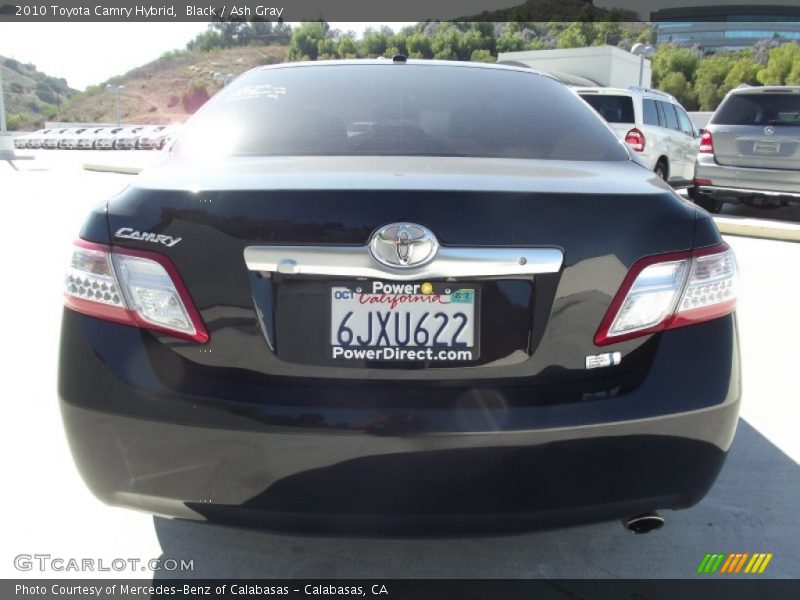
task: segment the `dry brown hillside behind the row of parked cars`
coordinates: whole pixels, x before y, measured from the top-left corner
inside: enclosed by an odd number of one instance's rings
[[[125,86],[125,91],[120,95],[122,123],[180,123],[220,89],[221,84],[213,79],[214,73],[238,75],[258,65],[283,62],[285,57],[285,46],[168,53],[124,75],[91,86],[85,92],[72,90],[69,100],[61,104],[59,120],[113,123],[114,94],[105,91],[106,84],[111,83]],[[6,81],[5,70],[3,77]],[[7,93],[6,112],[11,114],[16,111],[8,106],[9,96]],[[23,121],[9,122],[9,128],[34,129],[43,121],[52,120],[53,116],[54,111],[42,112]]]

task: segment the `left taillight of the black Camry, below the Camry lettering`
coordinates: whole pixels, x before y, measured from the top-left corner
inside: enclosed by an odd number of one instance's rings
[[[161,254],[78,240],[64,283],[64,304],[79,313],[208,341],[177,269]]]

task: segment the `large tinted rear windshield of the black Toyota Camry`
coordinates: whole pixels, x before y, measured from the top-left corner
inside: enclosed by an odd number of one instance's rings
[[[548,77],[391,62],[245,75],[189,120],[173,152],[628,158],[602,121]]]

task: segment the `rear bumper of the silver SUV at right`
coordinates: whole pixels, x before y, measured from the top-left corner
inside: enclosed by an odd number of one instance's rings
[[[711,185],[697,186],[701,194],[736,200],[752,196],[780,197],[800,202],[800,169],[750,169],[719,165],[711,155],[700,155],[695,179],[708,179]]]

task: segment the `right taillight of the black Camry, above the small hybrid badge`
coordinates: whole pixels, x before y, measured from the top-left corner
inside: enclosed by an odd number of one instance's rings
[[[637,261],[594,337],[598,346],[727,315],[736,308],[736,260],[727,244]]]

